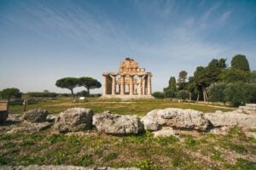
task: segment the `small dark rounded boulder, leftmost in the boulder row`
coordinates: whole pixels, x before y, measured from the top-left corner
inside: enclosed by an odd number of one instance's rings
[[[33,109],[26,111],[21,116],[23,122],[45,122],[48,111],[42,109]]]

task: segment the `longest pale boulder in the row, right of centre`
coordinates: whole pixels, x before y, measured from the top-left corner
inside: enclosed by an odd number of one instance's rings
[[[209,125],[201,111],[167,108],[154,110],[143,116],[142,122],[146,130],[157,131],[162,127],[195,129],[206,131]]]

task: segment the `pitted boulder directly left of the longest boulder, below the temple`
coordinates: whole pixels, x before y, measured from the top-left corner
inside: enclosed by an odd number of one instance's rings
[[[138,116],[120,116],[109,111],[93,116],[93,125],[98,132],[108,134],[137,134],[143,131],[143,124]]]

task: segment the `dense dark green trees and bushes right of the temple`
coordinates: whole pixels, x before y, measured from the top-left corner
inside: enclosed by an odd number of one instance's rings
[[[154,97],[230,102],[234,106],[256,103],[256,71],[250,71],[245,55],[234,56],[229,68],[226,59],[212,59],[206,67],[196,67],[188,81],[187,72],[180,71],[177,82],[171,77],[169,86]]]

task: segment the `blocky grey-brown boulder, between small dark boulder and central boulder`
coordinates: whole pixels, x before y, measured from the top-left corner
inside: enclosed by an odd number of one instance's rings
[[[90,129],[93,111],[84,108],[70,108],[55,116],[55,131],[60,133]]]

